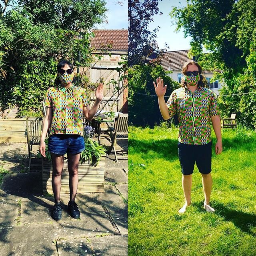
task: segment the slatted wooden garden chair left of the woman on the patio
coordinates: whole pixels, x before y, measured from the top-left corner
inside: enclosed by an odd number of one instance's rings
[[[28,117],[26,116],[26,126],[27,126],[27,142],[28,142],[28,171],[30,171],[31,166],[41,166],[38,164],[31,164],[32,158],[32,147],[33,145],[40,145],[40,139],[42,134],[43,117]]]

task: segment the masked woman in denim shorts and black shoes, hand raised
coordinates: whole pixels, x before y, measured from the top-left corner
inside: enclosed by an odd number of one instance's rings
[[[103,98],[103,84],[99,84],[95,96],[96,101],[90,109],[90,98],[83,88],[72,84],[74,67],[68,61],[61,61],[57,66],[58,75],[54,87],[46,92],[46,117],[43,124],[40,152],[45,157],[45,138],[49,130],[48,150],[52,157],[52,190],[54,193],[54,210],[52,218],[60,220],[62,208],[60,205],[61,174],[64,154],[68,156],[68,172],[70,201],[68,210],[73,218],[79,218],[80,212],[75,203],[78,186],[78,163],[84,150],[82,118],[92,120]]]

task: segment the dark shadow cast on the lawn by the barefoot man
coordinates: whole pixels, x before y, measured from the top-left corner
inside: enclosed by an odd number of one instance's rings
[[[204,212],[204,208],[202,207],[203,204],[203,201],[193,203],[193,205],[196,206],[200,212]],[[256,232],[252,232],[251,230],[256,227],[256,214],[234,210],[220,202],[215,202],[212,204],[212,206],[215,209],[216,215],[222,217],[226,221],[231,221],[234,226],[239,228],[241,231],[252,236],[256,236]]]

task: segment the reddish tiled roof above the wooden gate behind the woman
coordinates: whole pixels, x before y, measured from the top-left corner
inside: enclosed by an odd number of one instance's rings
[[[91,39],[91,45],[96,50],[106,49],[106,45],[112,44],[112,51],[128,51],[127,29],[93,29],[95,37]]]

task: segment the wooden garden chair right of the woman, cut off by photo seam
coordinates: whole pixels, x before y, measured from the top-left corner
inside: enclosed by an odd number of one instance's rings
[[[111,146],[108,149],[107,154],[110,154],[112,149],[114,150],[116,162],[118,162],[118,158],[128,158],[127,150],[116,150],[115,144],[117,140],[127,140],[128,141],[128,114],[118,114],[117,121],[114,124],[114,131],[112,132],[111,138]],[[126,155],[120,155],[120,153],[126,153]],[[118,153],[118,156],[117,156]]]

